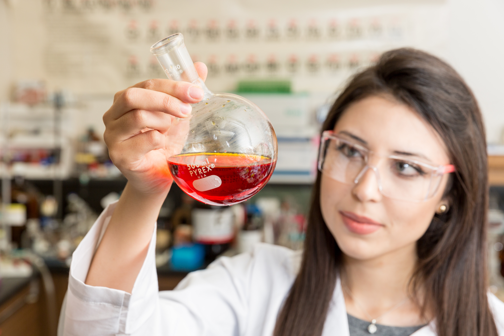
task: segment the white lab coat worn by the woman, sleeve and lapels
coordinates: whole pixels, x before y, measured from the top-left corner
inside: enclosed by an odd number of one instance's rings
[[[59,319],[59,336],[272,334],[279,309],[299,267],[298,252],[259,244],[252,253],[222,257],[207,269],[188,274],[173,291],[159,292],[154,232],[132,294],[85,285],[94,251],[114,208],[115,203],[102,212],[74,252]],[[488,295],[488,302],[499,335],[504,336],[504,303],[493,294]],[[433,326],[431,322],[414,336],[435,335]],[[349,335],[339,281],[323,335]]]

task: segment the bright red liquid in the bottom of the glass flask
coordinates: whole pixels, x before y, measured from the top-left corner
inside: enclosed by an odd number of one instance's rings
[[[194,199],[231,205],[255,195],[273,174],[276,161],[261,155],[192,153],[168,158],[176,184]]]

